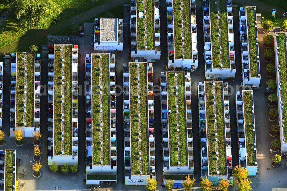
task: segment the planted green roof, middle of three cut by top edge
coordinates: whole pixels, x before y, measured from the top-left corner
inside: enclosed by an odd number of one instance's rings
[[[190,28],[190,1],[183,3],[183,10],[181,11],[180,0],[173,0],[173,16],[174,16],[174,48],[175,59],[182,59],[184,54],[185,59],[191,59],[191,28]],[[181,17],[181,15],[183,17]],[[184,45],[182,45],[182,33],[181,33],[181,20],[183,20],[184,29]],[[182,46],[184,46],[184,52],[182,52]]]

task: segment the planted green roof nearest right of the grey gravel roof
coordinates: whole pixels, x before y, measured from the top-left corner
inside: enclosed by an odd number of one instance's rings
[[[139,50],[145,49],[148,46],[148,50],[154,49],[154,2],[153,0],[137,0],[137,48]],[[147,30],[147,44],[145,44],[145,18],[139,18],[139,12],[146,10],[146,30]]]

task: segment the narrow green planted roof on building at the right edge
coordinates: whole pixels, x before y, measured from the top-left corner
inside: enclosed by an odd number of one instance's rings
[[[286,66],[286,36],[284,34],[278,34],[277,38],[278,46],[279,47],[279,64],[280,64],[280,71],[281,71],[281,96],[283,101],[283,117],[287,117],[287,66]],[[284,127],[284,138],[287,139],[287,125]]]

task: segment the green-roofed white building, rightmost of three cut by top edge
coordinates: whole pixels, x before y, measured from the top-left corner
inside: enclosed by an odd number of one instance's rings
[[[220,10],[225,10],[220,12]],[[231,0],[203,0],[206,79],[235,77],[235,50]]]

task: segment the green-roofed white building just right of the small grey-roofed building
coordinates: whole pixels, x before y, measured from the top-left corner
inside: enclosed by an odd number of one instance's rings
[[[159,0],[131,0],[131,58],[160,59]]]

